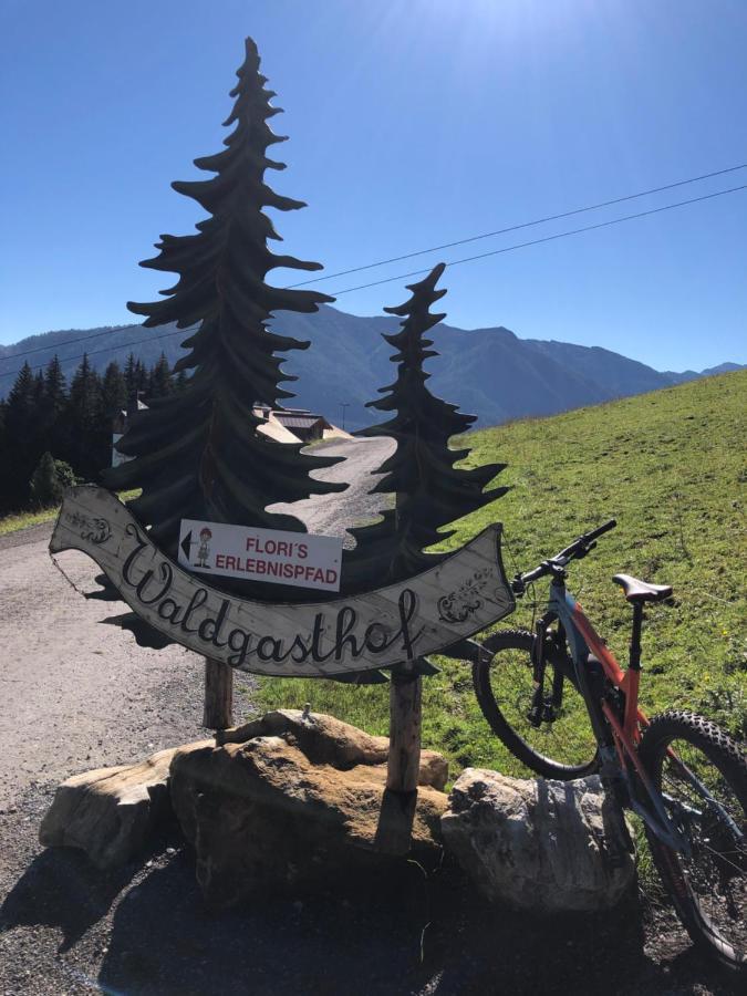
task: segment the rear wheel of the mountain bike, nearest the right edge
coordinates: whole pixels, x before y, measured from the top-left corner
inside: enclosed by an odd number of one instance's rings
[[[696,945],[732,972],[747,976],[744,750],[710,720],[671,710],[652,719],[641,739],[640,757],[655,787],[664,792],[667,815],[692,849],[687,857],[678,853],[646,826],[654,864],[677,915]],[[734,826],[687,777],[682,762],[728,812]]]

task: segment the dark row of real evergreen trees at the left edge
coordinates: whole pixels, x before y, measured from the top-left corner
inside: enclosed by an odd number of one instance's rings
[[[0,402],[0,513],[45,504],[50,474],[61,485],[100,480],[112,460],[115,416],[134,398],[148,404],[186,383],[163,353],[149,370],[131,353],[124,370],[113,361],[103,376],[84,355],[70,387],[56,355],[35,374],[24,363]]]

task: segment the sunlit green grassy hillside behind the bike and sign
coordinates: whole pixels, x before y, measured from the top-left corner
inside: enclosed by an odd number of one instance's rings
[[[702,710],[747,735],[747,371],[474,434],[470,464],[504,460],[501,500],[457,523],[455,546],[491,520],[506,526],[507,572],[529,569],[579,532],[615,517],[618,529],[572,567],[569,588],[626,660],[631,611],[610,577],[624,571],[674,585],[675,604],[647,611],[643,707]],[[511,556],[512,554],[512,556]],[[538,594],[544,596],[547,588]],[[521,604],[504,626],[527,626]],[[423,739],[461,766],[526,774],[490,734],[466,664],[424,679]],[[330,712],[386,733],[386,686],[266,678],[262,708]]]

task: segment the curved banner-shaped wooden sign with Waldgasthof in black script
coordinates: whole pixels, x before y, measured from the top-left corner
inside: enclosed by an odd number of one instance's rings
[[[500,529],[489,526],[430,570],[377,591],[260,602],[183,570],[111,491],[82,486],[65,494],[50,552],[87,553],[134,612],[212,661],[257,674],[325,677],[436,653],[511,612]]]

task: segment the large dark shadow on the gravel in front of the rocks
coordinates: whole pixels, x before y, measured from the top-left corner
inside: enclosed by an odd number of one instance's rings
[[[127,994],[599,993],[665,986],[631,899],[614,915],[496,911],[454,871],[360,878],[325,895],[270,893],[210,913],[188,854],[117,906],[98,984]],[[632,983],[630,989],[625,984]],[[658,988],[657,988],[658,986]]]

